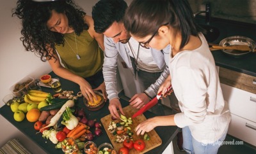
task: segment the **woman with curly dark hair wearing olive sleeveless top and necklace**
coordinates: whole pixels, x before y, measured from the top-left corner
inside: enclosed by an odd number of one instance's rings
[[[27,51],[48,61],[61,78],[77,83],[89,101],[96,98],[93,90],[101,90],[106,101],[103,34],[94,31],[92,17],[72,0],[18,0],[13,15],[22,20],[20,40]]]

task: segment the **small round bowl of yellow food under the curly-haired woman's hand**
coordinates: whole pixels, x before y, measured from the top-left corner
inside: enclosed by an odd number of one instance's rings
[[[100,102],[92,104],[91,102],[88,102],[88,100],[85,97],[83,98],[84,105],[90,111],[97,111],[97,110],[101,109],[105,104],[104,97],[103,97],[102,93],[97,92],[97,91],[94,91],[94,93],[96,95],[100,96],[100,99],[101,99]]]

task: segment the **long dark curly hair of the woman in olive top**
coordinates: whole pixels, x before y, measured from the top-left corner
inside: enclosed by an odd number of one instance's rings
[[[44,3],[18,0],[17,8],[13,10],[12,17],[16,15],[22,20],[22,37],[20,40],[27,51],[34,52],[43,62],[54,58],[55,53],[49,53],[51,48],[55,50],[55,45],[64,45],[63,34],[50,31],[46,25],[52,10],[65,13],[68,18],[68,25],[74,29],[77,35],[89,29],[83,19],[86,13],[72,0]]]

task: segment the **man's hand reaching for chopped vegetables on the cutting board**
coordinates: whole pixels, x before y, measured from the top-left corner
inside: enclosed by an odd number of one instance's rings
[[[113,118],[117,118],[117,119],[120,118],[120,114],[118,113],[117,109],[119,109],[119,111],[122,115],[125,115],[124,111],[122,109],[122,105],[121,105],[119,99],[117,99],[117,98],[111,99],[109,101],[108,109],[109,109],[111,116],[113,116]]]

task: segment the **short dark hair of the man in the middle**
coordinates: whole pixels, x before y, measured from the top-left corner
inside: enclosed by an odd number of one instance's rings
[[[127,7],[124,0],[100,0],[92,8],[95,32],[103,33],[113,22],[122,21]]]

